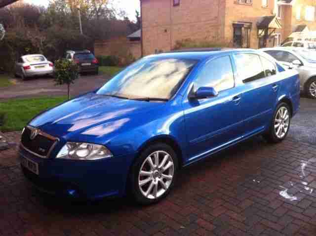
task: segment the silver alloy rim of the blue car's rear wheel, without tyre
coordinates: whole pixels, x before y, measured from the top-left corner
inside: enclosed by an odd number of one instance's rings
[[[290,123],[290,115],[286,107],[280,107],[276,113],[275,118],[275,132],[276,137],[281,139],[283,138],[288,130]]]

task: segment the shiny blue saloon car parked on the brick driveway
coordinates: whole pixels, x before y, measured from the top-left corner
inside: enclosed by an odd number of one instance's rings
[[[23,130],[25,176],[42,191],[142,204],[179,169],[262,134],[285,139],[300,107],[297,72],[235,49],[144,57],[101,88],[52,108]]]

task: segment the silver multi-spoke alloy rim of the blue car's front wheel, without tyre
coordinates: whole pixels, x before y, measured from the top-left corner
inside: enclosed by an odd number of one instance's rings
[[[174,176],[172,157],[164,151],[149,155],[139,171],[138,186],[142,195],[149,199],[161,197],[170,187]]]

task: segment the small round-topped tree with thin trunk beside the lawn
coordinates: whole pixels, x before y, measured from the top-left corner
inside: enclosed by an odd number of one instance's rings
[[[70,85],[79,78],[79,66],[73,61],[59,59],[55,62],[55,85],[67,84],[68,100],[70,100]]]

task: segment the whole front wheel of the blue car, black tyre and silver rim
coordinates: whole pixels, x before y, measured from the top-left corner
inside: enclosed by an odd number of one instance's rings
[[[149,146],[137,158],[130,174],[134,199],[144,205],[156,203],[172,189],[178,172],[178,157],[165,144]]]

